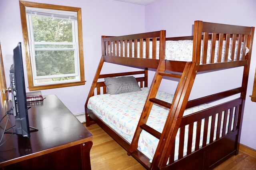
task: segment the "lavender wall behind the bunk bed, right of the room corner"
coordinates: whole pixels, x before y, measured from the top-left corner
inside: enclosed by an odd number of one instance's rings
[[[256,27],[255,8],[255,0],[160,0],[146,6],[145,31],[165,29],[167,37],[192,35],[194,20]],[[251,102],[249,95],[252,94],[256,66],[255,37],[241,135],[241,143],[253,149],[256,149],[256,103]],[[232,75],[232,72],[239,69],[225,70],[221,74]],[[233,77],[220,77],[220,73],[217,72],[200,74],[196,77],[196,88],[192,89],[190,98],[217,92],[217,89],[225,90],[228,86],[240,86],[241,80],[234,80],[234,76],[242,74],[233,74]],[[226,81],[216,83],[214,80],[217,78]],[[161,86],[161,90],[169,89],[169,86]],[[207,86],[213,90],[210,92]],[[215,88],[216,86],[218,88]]]

